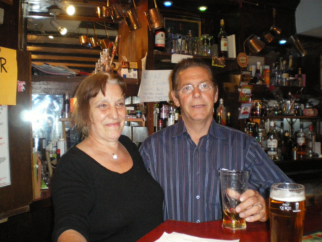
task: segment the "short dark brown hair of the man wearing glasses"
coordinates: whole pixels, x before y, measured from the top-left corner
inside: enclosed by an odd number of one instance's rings
[[[217,82],[213,77],[212,69],[208,64],[206,64],[202,59],[185,58],[181,60],[173,69],[173,72],[171,75],[172,90],[174,91],[178,90],[178,75],[181,71],[188,69],[189,67],[202,67],[206,69],[209,72],[209,75],[213,81],[213,85],[217,86]]]

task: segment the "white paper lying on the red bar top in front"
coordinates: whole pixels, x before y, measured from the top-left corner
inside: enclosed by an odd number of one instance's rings
[[[227,241],[239,242],[239,239],[236,239],[236,240],[207,239],[207,238],[200,238],[200,237],[195,237],[195,236],[191,236],[191,235],[180,234],[180,233],[176,233],[176,232],[172,232],[171,234],[164,232],[163,235],[155,242],[193,242],[193,241],[198,241],[198,242],[227,242]]]

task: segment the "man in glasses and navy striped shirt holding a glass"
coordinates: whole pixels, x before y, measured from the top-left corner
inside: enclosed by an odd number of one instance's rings
[[[171,78],[171,95],[182,118],[140,146],[147,170],[164,190],[164,218],[188,222],[222,219],[219,171],[234,169],[249,172],[249,189],[240,197],[242,203],[236,211],[247,222],[266,221],[270,186],[291,180],[253,137],[215,123],[213,104],[218,87],[210,66],[198,59],[184,59]]]

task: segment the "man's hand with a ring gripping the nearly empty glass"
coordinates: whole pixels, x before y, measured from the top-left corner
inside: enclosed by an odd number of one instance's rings
[[[258,191],[248,189],[240,199],[242,203],[236,207],[239,216],[244,217],[247,222],[265,222],[269,218],[268,199],[260,196]]]

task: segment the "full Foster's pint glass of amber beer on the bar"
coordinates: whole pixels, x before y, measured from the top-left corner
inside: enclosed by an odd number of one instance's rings
[[[270,241],[301,242],[305,207],[303,185],[273,184],[270,188]]]

